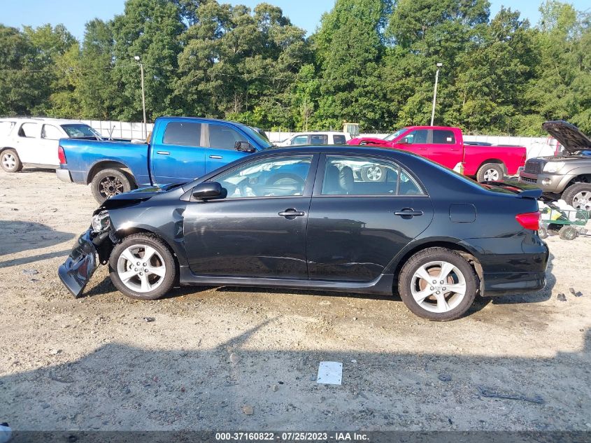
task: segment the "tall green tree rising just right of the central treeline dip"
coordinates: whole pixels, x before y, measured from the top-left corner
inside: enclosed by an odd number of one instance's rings
[[[385,0],[336,0],[322,15],[312,40],[322,82],[316,115],[325,127],[340,127],[343,120],[380,127],[385,106],[379,66],[389,8]]]

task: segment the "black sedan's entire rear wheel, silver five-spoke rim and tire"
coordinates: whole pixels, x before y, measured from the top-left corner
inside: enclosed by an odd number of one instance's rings
[[[446,248],[427,248],[402,267],[398,291],[413,314],[432,321],[460,318],[478,290],[478,276],[462,255]]]

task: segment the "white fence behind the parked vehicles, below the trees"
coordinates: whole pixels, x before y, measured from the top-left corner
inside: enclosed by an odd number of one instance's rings
[[[114,139],[145,139],[143,123],[141,122],[115,122],[106,120],[82,120],[87,125],[96,129],[102,136],[111,136]],[[148,123],[148,132],[152,131],[153,123]],[[269,140],[275,143],[287,139],[295,132],[266,132]],[[387,134],[360,134],[360,136],[383,139]],[[546,137],[521,137],[521,136],[491,136],[491,135],[466,135],[465,141],[481,141],[496,145],[525,146],[527,158],[553,155],[553,146],[548,145]]]

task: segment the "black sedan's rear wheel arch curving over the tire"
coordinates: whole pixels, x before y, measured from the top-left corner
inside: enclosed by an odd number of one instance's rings
[[[415,244],[413,246],[409,246],[406,250],[401,251],[395,258],[390,262],[390,265],[387,266],[389,269],[388,274],[393,274],[394,279],[392,282],[392,290],[396,292],[396,288],[398,287],[398,277],[402,270],[402,267],[405,263],[416,253],[423,251],[427,248],[446,248],[450,249],[451,251],[455,251],[462,255],[464,259],[469,262],[471,267],[473,267],[476,275],[478,276],[478,280],[480,281],[479,292],[483,294],[484,292],[484,272],[482,264],[478,257],[476,256],[476,251],[472,251],[469,247],[465,244],[462,244],[460,240],[457,239],[433,239],[429,241],[422,242],[420,244]]]

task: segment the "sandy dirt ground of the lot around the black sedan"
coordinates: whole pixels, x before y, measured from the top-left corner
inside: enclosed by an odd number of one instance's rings
[[[0,171],[0,422],[13,429],[591,430],[591,237],[548,238],[545,290],[450,323],[346,293],[194,287],[141,302],[105,267],[76,300],[57,267],[96,206],[52,171]],[[325,360],[343,363],[341,386],[315,381]]]

